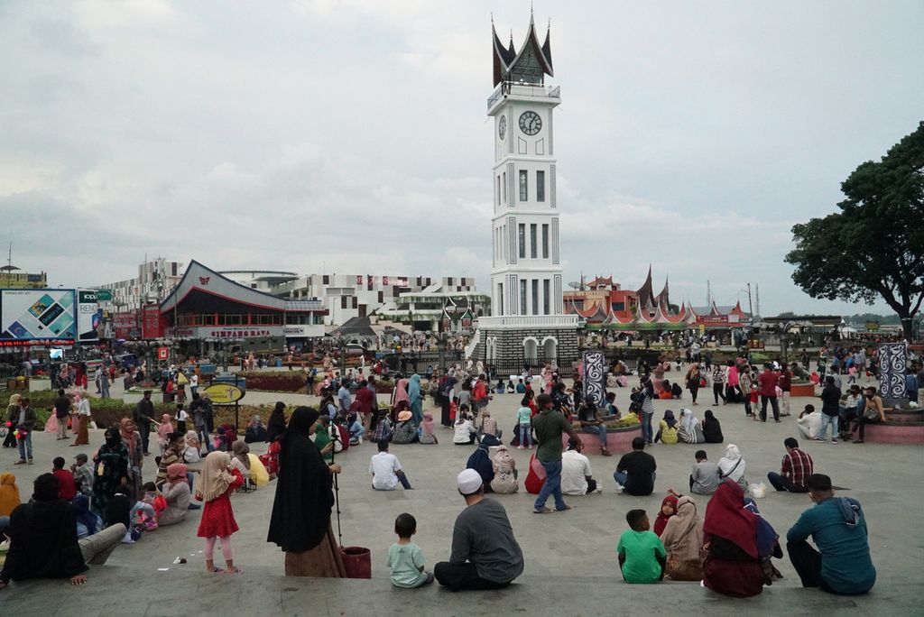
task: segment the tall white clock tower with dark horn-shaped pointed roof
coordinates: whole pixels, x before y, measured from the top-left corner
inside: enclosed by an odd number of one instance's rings
[[[577,360],[577,316],[563,307],[553,139],[562,100],[560,88],[545,83],[554,75],[549,35],[540,43],[530,15],[517,51],[492,23],[492,314],[480,318],[469,351],[502,374]]]

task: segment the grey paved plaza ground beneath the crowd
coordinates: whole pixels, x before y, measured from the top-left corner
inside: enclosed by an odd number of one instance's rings
[[[617,404],[626,409],[628,390],[617,389]],[[707,395],[708,394],[708,395]],[[311,403],[314,397],[274,393],[249,393],[249,402]],[[262,400],[263,398],[266,400]],[[689,406],[688,393],[681,401],[656,401],[656,418],[663,410],[676,412]],[[507,434],[514,424],[516,394],[495,395],[492,415]],[[725,443],[736,443],[747,461],[750,481],[766,482],[766,473],[778,470],[784,454],[783,440],[797,436],[795,416],[780,424],[753,422],[744,416],[743,405],[705,405],[711,393],[703,392],[691,407],[697,417],[711,408],[722,421]],[[811,399],[793,399],[794,411]],[[817,403],[817,400],[814,401]],[[429,400],[428,400],[429,405]],[[452,431],[439,429],[435,446],[394,445],[415,490],[380,492],[370,487],[369,458],[374,446],[364,443],[337,456],[344,466],[339,478],[339,503],[343,544],[371,549],[372,579],[292,579],[283,576],[283,555],[266,543],[267,521],[273,504],[274,484],[249,494],[238,494],[233,503],[240,531],[233,537],[235,561],[243,575],[207,575],[201,558],[202,540],[196,538],[201,511],[191,511],[184,523],[145,534],[138,543],[116,549],[109,562],[93,567],[84,587],[70,588],[66,581],[31,581],[11,584],[0,592],[4,614],[62,615],[170,615],[200,611],[262,614],[391,615],[404,613],[480,615],[502,612],[531,614],[629,614],[677,611],[709,611],[733,614],[810,614],[837,611],[845,614],[920,614],[921,555],[924,536],[919,531],[921,498],[918,470],[924,450],[916,446],[831,442],[802,443],[812,455],[815,468],[832,476],[842,494],[857,498],[869,524],[869,543],[878,581],[861,597],[833,597],[802,589],[788,558],[776,560],[784,579],[753,599],[728,599],[691,583],[667,582],[656,587],[623,583],[615,558],[615,544],[626,529],[625,514],[644,508],[653,517],[668,488],[687,489],[693,453],[706,450],[718,460],[724,444],[696,446],[655,445],[649,448],[658,461],[655,492],[649,497],[617,494],[612,474],[618,460],[591,456],[594,476],[602,479],[602,494],[566,497],[575,506],[566,513],[532,514],[534,496],[522,489],[513,495],[492,497],[505,505],[517,539],[523,548],[526,571],[517,584],[500,591],[453,594],[437,586],[401,590],[390,586],[385,552],[395,540],[395,515],[414,514],[418,520],[416,541],[432,564],[448,557],[452,526],[464,507],[456,492],[456,473],[465,466],[471,446],[455,446]],[[32,479],[51,469],[56,455],[70,458],[78,451],[91,454],[103,442],[102,431],[91,432],[91,447],[68,447],[54,436],[37,434],[34,466],[12,466],[18,455],[0,450],[0,470],[17,475],[23,497],[30,494]],[[253,448],[255,453],[262,446]],[[512,450],[522,480],[529,451]],[[153,478],[152,458],[146,459],[145,478]],[[522,484],[522,483],[521,483]],[[700,515],[707,500],[696,497]],[[761,514],[785,536],[798,515],[811,505],[805,494],[771,491],[759,500]],[[334,532],[336,516],[334,514]],[[184,557],[186,564],[173,563]],[[165,570],[164,570],[165,569]],[[7,612],[8,611],[8,612]]]

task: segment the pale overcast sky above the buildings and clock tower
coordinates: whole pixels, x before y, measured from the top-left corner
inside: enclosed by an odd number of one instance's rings
[[[491,14],[529,2],[0,3],[0,231],[49,283],[491,267]],[[793,224],[924,116],[924,3],[535,2],[552,19],[565,280],[812,300]],[[8,230],[8,231],[7,231]],[[887,241],[887,239],[883,239]],[[4,251],[6,252],[6,250]],[[754,287],[754,285],[752,285]],[[755,288],[756,289],[756,288]],[[884,305],[875,309],[885,310]]]

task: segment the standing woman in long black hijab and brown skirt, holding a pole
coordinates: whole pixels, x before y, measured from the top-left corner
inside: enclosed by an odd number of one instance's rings
[[[296,408],[279,438],[279,476],[266,541],[286,551],[286,576],[343,578],[331,529],[333,474],[340,473],[340,466],[327,466],[310,440],[318,417],[315,409]]]

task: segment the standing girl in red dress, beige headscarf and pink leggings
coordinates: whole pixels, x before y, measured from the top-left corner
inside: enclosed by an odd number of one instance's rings
[[[205,465],[196,488],[196,498],[205,502],[199,522],[200,538],[205,538],[205,569],[207,572],[223,572],[215,567],[213,554],[215,539],[222,540],[222,556],[225,557],[227,574],[243,572],[234,564],[231,553],[231,534],[237,531],[237,521],[231,509],[231,493],[244,483],[237,469],[231,467],[231,457],[226,452],[215,451],[205,457]]]

